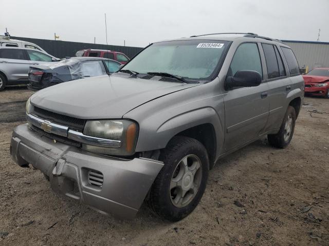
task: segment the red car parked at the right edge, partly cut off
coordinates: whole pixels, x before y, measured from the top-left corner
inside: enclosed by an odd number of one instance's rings
[[[329,98],[329,68],[316,68],[303,75],[305,94]]]

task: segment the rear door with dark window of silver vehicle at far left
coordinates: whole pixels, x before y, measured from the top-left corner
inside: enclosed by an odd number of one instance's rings
[[[28,81],[30,61],[25,50],[0,49],[0,70],[4,71],[9,81]]]

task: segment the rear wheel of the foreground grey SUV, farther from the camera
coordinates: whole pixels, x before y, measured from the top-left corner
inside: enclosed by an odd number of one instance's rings
[[[287,112],[283,118],[279,132],[277,134],[267,135],[269,144],[276,148],[281,148],[281,149],[286,148],[289,145],[291,138],[293,138],[295,124],[296,124],[295,108],[288,106]]]

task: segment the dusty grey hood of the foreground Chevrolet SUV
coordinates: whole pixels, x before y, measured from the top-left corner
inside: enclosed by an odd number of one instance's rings
[[[82,119],[122,118],[155,98],[200,84],[182,84],[124,75],[68,81],[31,96],[39,108]]]

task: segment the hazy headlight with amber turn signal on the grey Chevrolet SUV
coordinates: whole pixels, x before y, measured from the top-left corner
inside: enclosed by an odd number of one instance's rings
[[[135,153],[138,126],[131,120],[88,120],[83,130],[87,136],[121,141],[119,148],[82,145],[82,149],[107,155],[128,156]]]

